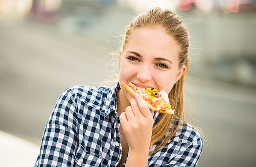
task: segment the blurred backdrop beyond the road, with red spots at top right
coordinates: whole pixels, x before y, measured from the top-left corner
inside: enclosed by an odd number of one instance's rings
[[[185,19],[197,73],[256,86],[256,0],[0,0],[0,16],[29,15],[105,42],[124,33],[130,16],[155,6]]]

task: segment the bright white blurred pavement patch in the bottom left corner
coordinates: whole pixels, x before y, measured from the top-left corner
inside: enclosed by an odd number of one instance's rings
[[[39,149],[34,143],[0,131],[1,167],[33,167]]]

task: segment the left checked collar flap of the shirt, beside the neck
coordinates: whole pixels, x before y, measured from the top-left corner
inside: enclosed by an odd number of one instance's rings
[[[120,89],[119,81],[108,91],[106,102],[105,102],[105,114],[106,117],[112,111],[117,111],[117,92]]]

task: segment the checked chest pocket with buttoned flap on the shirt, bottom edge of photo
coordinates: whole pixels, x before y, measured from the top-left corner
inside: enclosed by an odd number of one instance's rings
[[[98,167],[102,161],[102,156],[94,154],[79,147],[75,156],[75,167]]]

